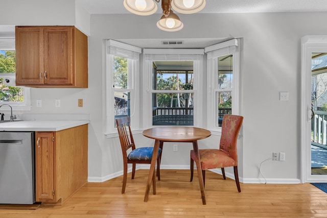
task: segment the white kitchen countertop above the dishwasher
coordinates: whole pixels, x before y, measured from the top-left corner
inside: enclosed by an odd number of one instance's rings
[[[89,123],[89,120],[22,120],[0,123],[0,131],[60,131]]]

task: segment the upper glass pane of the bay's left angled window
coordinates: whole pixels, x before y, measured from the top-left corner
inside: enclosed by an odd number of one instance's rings
[[[128,59],[114,56],[114,87],[128,88]]]

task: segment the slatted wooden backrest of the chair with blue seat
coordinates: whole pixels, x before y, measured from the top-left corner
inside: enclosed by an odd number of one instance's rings
[[[126,151],[128,149],[135,149],[134,139],[130,127],[130,118],[129,116],[119,117],[116,118],[115,122],[122,146],[123,156],[127,156]]]

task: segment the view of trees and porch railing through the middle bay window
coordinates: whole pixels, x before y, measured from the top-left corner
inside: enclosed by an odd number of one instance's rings
[[[192,61],[188,61],[193,66]],[[178,68],[180,62],[168,62]],[[154,63],[154,65],[157,65]],[[153,69],[152,125],[193,125],[193,70]],[[187,90],[187,91],[186,91]]]

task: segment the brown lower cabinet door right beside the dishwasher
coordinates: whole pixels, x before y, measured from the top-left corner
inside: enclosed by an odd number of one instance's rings
[[[36,132],[35,191],[36,201],[54,200],[54,134]]]

